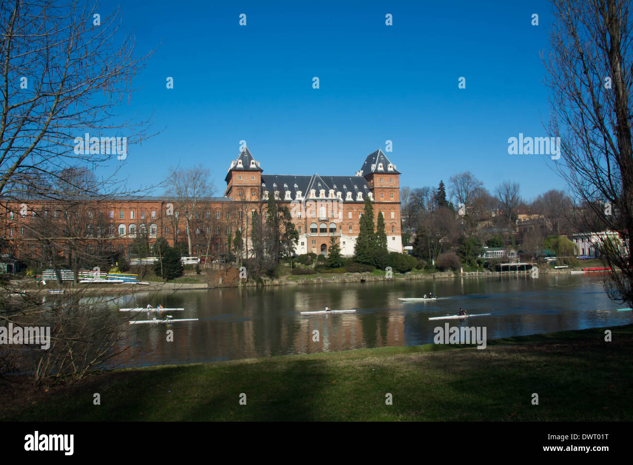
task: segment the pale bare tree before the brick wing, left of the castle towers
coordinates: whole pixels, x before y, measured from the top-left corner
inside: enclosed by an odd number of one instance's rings
[[[189,169],[170,168],[168,187],[165,195],[173,197],[177,208],[185,218],[185,233],[189,245],[189,255],[193,253],[191,243],[191,228],[194,213],[201,202],[215,192],[215,187],[210,180],[210,171],[202,164]],[[176,206],[175,206],[176,207]]]

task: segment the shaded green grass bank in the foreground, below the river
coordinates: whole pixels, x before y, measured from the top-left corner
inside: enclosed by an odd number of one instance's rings
[[[484,350],[427,344],[122,369],[46,391],[0,387],[0,420],[630,421],[631,349],[625,325]]]

